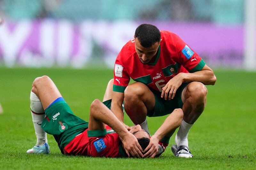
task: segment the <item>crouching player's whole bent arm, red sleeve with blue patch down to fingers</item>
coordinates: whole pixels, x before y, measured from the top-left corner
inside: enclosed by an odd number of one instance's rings
[[[214,85],[216,77],[210,67],[208,67],[202,58],[190,48],[183,40],[177,35],[171,35],[169,44],[172,48],[176,48],[177,55],[172,59],[176,63],[180,63],[190,73],[179,73],[174,76],[162,89],[161,97],[165,100],[174,98],[177,89],[183,81],[201,82],[204,85]],[[169,95],[169,97],[168,97]]]

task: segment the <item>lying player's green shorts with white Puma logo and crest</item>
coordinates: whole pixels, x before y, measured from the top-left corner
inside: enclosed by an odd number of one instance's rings
[[[46,108],[45,115],[41,127],[53,135],[63,154],[64,147],[88,128],[88,122],[74,115],[65,101],[52,103]]]

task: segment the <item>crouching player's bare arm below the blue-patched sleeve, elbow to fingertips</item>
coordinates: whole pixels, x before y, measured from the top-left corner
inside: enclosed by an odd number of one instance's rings
[[[165,100],[173,99],[177,89],[180,87],[182,82],[201,82],[204,85],[214,85],[216,82],[216,77],[210,67],[204,65],[202,70],[196,71],[194,73],[179,73],[174,76],[162,89],[161,97]],[[169,97],[168,97],[169,94]]]

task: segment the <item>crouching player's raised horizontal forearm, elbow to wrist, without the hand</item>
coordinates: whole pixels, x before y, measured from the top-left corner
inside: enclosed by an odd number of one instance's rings
[[[183,81],[192,82],[197,81],[201,82],[204,85],[214,85],[216,82],[216,77],[211,70],[201,70],[194,73],[180,73]],[[179,74],[178,74],[179,75]]]

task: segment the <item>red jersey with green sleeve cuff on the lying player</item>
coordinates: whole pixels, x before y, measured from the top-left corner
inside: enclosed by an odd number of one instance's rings
[[[119,136],[108,125],[104,130],[86,129],[64,147],[64,153],[93,157],[126,157]]]

